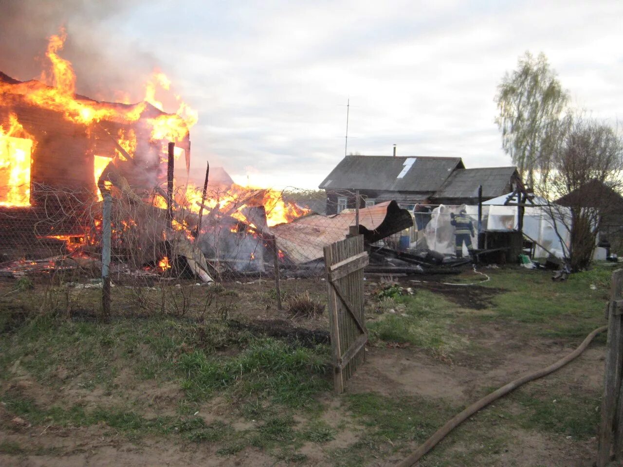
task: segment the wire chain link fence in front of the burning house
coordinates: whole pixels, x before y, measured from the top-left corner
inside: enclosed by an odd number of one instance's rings
[[[281,308],[290,281],[320,286],[323,247],[343,239],[357,222],[354,210],[326,216],[320,191],[178,187],[169,211],[159,187],[141,194],[112,184],[102,188],[111,195],[113,312],[122,306],[136,314],[180,316],[208,308],[226,314],[235,297],[212,291],[243,285]],[[49,303],[42,309],[101,313],[102,199],[87,190],[36,184],[31,191],[35,205],[0,206],[0,276],[16,288],[44,287]]]

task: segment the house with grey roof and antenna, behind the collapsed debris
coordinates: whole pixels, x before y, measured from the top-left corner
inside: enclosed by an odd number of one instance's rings
[[[465,169],[461,158],[346,156],[321,182],[326,214],[396,200],[402,207],[416,204],[475,204],[478,186],[483,200],[513,191],[520,177],[515,167]]]

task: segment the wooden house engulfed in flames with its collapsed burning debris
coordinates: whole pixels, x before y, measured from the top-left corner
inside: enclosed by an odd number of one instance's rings
[[[208,271],[264,270],[265,252],[277,255],[269,228],[307,211],[226,173],[216,184],[206,174],[203,190],[178,186],[171,166],[183,163],[188,174],[196,114],[184,103],[165,113],[153,86],[132,105],[77,95],[71,64],[58,54],[63,41],[53,36],[47,49],[52,85],[0,73],[4,260],[97,257],[101,200],[111,194],[113,256],[126,269],[167,273],[181,260],[178,269],[204,280]]]

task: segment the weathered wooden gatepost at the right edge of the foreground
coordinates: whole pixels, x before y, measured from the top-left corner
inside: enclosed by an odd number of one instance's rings
[[[597,467],[606,467],[622,459],[623,399],[621,397],[621,364],[623,362],[623,270],[612,273],[612,288],[608,305],[608,337],[606,344],[606,370],[604,373],[604,398],[601,404],[601,425],[597,448]]]

